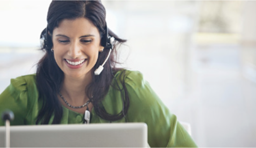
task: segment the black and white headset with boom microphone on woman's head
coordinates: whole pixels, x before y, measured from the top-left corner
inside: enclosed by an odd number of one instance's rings
[[[102,39],[101,39],[101,46],[104,47],[104,49],[108,49],[109,50],[109,53],[108,53],[108,56],[107,58],[105,59],[105,61],[102,63],[102,65],[100,65],[95,71],[94,71],[94,74],[95,75],[100,75],[100,73],[102,72],[102,70],[104,69],[104,65],[106,63],[106,61],[108,61],[108,58],[109,58],[109,55],[113,49],[113,46],[114,46],[114,42],[115,42],[115,38],[114,37],[111,37],[109,36],[108,34],[108,26],[107,26],[107,23],[106,23],[106,26],[105,26],[105,30],[106,32],[104,33]],[[41,35],[40,35],[40,44],[41,44],[41,48],[47,48],[47,33],[48,32],[48,26],[42,31]]]

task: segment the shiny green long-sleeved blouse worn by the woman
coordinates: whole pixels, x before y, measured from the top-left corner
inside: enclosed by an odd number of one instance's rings
[[[148,144],[150,147],[197,147],[187,131],[171,114],[160,98],[152,90],[143,75],[137,71],[127,71],[125,85],[130,98],[130,107],[126,118],[128,122],[145,122],[148,126]],[[117,72],[118,83],[121,72]],[[0,94],[0,114],[6,109],[13,111],[15,119],[11,125],[35,124],[41,101],[35,83],[35,74],[11,79],[11,84]],[[122,110],[121,92],[109,88],[107,96],[102,101],[108,113],[116,114]],[[100,118],[92,109],[91,123],[109,122]],[[53,119],[53,118],[52,118]],[[50,123],[52,120],[50,120]],[[82,124],[83,114],[71,111],[63,106],[61,124]],[[125,122],[121,119],[115,122]],[[4,121],[0,120],[0,126]]]

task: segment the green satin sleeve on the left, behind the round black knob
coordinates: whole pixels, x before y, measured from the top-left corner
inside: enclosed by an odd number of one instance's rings
[[[0,115],[9,109],[14,113],[14,120],[11,125],[25,125],[28,123],[28,113],[32,112],[35,106],[37,89],[34,75],[20,76],[11,79],[10,85],[0,94]],[[0,126],[4,126],[4,121],[0,119]]]

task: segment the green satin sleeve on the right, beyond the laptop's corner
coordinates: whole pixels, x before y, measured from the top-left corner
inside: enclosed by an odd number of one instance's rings
[[[125,84],[130,98],[127,119],[147,124],[150,147],[197,147],[140,72],[127,74]]]

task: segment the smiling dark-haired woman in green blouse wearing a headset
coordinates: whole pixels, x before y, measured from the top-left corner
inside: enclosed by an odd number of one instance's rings
[[[196,146],[140,72],[115,68],[126,40],[108,30],[100,1],[52,1],[47,22],[36,74],[12,79],[0,95],[12,125],[145,122],[151,147]]]

